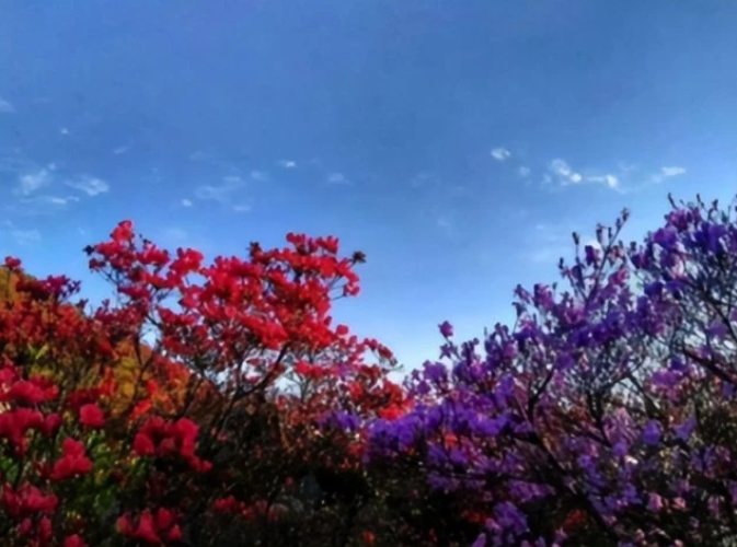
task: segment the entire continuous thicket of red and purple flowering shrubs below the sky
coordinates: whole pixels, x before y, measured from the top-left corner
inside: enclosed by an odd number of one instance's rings
[[[111,301],[0,272],[0,545],[737,545],[735,208],[598,226],[514,325],[389,380],[334,237],[206,264],[122,222]]]

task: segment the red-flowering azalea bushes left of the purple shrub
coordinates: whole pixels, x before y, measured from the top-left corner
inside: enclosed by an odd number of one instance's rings
[[[370,542],[361,440],[327,422],[407,400],[391,352],[330,316],[362,255],[289,234],[205,264],[130,222],[87,253],[115,291],[94,309],[79,283],[5,259],[2,545]]]

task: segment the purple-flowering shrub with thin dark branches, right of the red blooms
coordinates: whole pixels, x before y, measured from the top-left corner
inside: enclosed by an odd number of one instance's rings
[[[514,326],[440,325],[414,409],[368,424],[373,473],[452,508],[438,544],[737,545],[735,207],[671,205],[642,244],[626,211],[597,245],[574,234],[564,283],[518,287]]]

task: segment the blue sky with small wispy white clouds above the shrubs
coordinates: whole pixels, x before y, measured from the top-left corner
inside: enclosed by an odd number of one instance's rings
[[[369,257],[336,316],[408,366],[510,318],[569,233],[737,189],[737,3],[0,1],[0,253],[85,271],[122,219]]]

